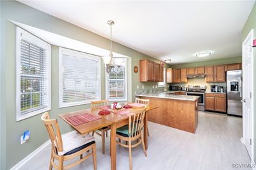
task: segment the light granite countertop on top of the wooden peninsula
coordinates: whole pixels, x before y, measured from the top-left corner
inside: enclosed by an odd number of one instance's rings
[[[154,97],[154,98],[170,98],[174,100],[188,100],[188,101],[195,101],[199,97],[196,96],[186,96],[186,95],[172,95],[178,91],[166,91],[166,92],[156,92],[156,93],[143,93],[138,94],[136,97]]]

